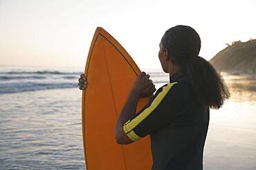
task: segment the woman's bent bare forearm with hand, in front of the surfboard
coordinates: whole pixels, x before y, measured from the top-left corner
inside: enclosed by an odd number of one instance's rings
[[[116,123],[116,142],[118,142],[118,144],[124,145],[134,142],[127,137],[127,134],[125,134],[122,127],[128,120],[136,116],[138,100],[142,97],[152,96],[155,91],[155,85],[149,79],[148,74],[142,72],[140,75],[138,75],[136,81],[134,82],[134,86],[129,93],[127,102],[118,116]]]

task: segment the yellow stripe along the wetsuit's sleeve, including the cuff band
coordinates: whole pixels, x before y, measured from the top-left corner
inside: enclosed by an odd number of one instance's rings
[[[174,83],[169,83],[167,84],[167,86],[163,87],[162,92],[160,92],[156,98],[152,101],[151,105],[149,107],[147,107],[143,112],[141,112],[138,116],[136,116],[136,118],[132,119],[132,120],[128,120],[125,125],[122,127],[125,131],[125,134],[127,134],[127,136],[133,140],[139,140],[140,136],[138,136],[133,129],[139,125],[145,118],[147,118],[147,116],[149,116],[149,114],[151,114],[154,109],[156,109],[156,107],[161,103],[161,101],[163,100],[163,98],[165,98],[165,95],[170,91],[170,89],[172,88],[172,86],[174,84],[176,84],[177,82]]]

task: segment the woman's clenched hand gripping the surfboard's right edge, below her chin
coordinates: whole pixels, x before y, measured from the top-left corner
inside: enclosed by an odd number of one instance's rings
[[[156,87],[152,83],[152,80],[149,79],[149,74],[141,72],[136,78],[131,91],[135,92],[140,97],[149,97],[156,91]]]

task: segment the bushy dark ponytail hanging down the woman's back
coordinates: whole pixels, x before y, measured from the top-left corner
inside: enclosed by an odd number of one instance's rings
[[[221,75],[201,56],[192,56],[185,63],[185,72],[190,78],[196,99],[202,105],[219,109],[230,98],[228,87]]]

